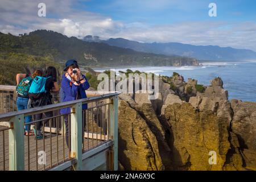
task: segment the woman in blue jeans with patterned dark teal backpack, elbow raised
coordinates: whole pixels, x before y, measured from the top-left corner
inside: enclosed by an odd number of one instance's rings
[[[32,74],[32,76],[28,74],[19,73],[16,75],[16,92],[17,92],[17,101],[16,106],[18,110],[23,110],[28,108],[28,90],[30,89],[31,82],[36,76],[42,76],[43,73],[40,69],[36,69],[36,71]],[[25,124],[30,123],[32,120],[32,116],[28,115],[25,117]],[[30,130],[30,125],[25,125],[25,135],[34,135],[34,133]]]

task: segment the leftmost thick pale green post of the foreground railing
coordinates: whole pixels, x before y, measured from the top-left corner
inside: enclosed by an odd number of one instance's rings
[[[10,119],[9,127],[9,170],[24,171],[24,114]]]

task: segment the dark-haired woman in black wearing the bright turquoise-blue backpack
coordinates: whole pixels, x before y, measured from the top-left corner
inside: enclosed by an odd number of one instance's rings
[[[40,85],[40,86],[39,86]],[[52,104],[52,92],[59,91],[59,85],[57,84],[57,71],[55,67],[48,67],[46,69],[46,76],[40,77],[37,76],[34,78],[30,90],[28,92],[28,96],[30,98],[29,106],[31,108],[46,106]],[[47,118],[52,117],[52,111],[44,113],[46,115],[46,120],[44,123],[48,122]],[[38,121],[42,119],[43,113],[35,114],[34,121]],[[44,136],[41,132],[41,127],[43,126],[43,121],[36,122],[36,129],[34,133],[36,135],[36,139],[43,139]]]

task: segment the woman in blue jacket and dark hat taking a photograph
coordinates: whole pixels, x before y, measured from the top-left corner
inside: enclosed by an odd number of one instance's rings
[[[60,96],[62,97],[61,101],[62,102],[74,101],[80,98],[86,98],[87,96],[86,96],[85,90],[87,90],[90,87],[90,85],[86,77],[82,75],[79,69],[79,65],[77,64],[77,61],[68,60],[65,64],[64,71],[66,73],[62,76],[62,81],[61,81],[61,91],[60,91],[61,92]],[[87,109],[87,104],[83,104],[82,109]],[[67,114],[67,115],[64,115],[64,121],[66,126],[65,138],[66,138],[68,147],[70,144],[70,137],[69,137],[70,126],[68,125],[68,114],[70,113],[71,113],[70,107],[60,110],[60,114]],[[84,121],[85,118],[82,117],[82,120]],[[83,123],[85,123],[85,121]],[[84,134],[84,129],[82,129],[82,133]]]

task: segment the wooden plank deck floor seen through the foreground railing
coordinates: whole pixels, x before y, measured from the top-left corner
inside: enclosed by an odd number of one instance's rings
[[[65,136],[46,133],[45,140],[35,140],[35,136],[24,136],[24,154],[25,154],[25,170],[47,170],[58,164],[69,160],[69,150],[65,142]],[[86,137],[86,136],[85,136]],[[103,139],[103,138],[102,138]],[[29,140],[29,150],[28,150]],[[36,143],[37,141],[37,143]],[[84,152],[103,144],[104,140],[99,139],[84,139]],[[36,147],[37,145],[37,147]],[[5,165],[3,157],[3,148],[5,148]],[[37,149],[36,149],[37,148]],[[46,165],[38,164],[37,157],[39,151],[46,151]],[[29,152],[29,159],[28,159]],[[29,162],[28,162],[29,160]],[[3,132],[0,132],[0,171],[9,170],[9,131],[5,131],[5,147],[3,147]]]

